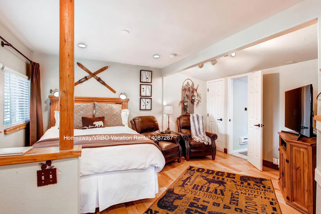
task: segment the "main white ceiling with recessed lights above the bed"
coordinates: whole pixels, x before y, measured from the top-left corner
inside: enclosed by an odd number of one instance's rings
[[[88,47],[75,56],[163,68],[301,1],[77,0],[75,45]],[[58,0],[0,0],[0,20],[33,51],[59,53]]]

